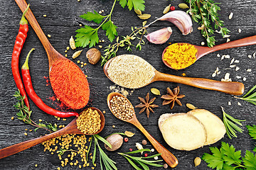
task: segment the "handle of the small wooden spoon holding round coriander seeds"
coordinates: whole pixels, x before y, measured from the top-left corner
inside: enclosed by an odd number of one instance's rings
[[[146,138],[151,142],[153,147],[156,149],[157,152],[161,153],[161,157],[164,159],[166,164],[169,164],[172,168],[178,165],[178,159],[174,156],[174,154],[171,154],[169,150],[167,150],[165,147],[163,147],[159,142],[157,142],[154,137],[152,137],[149,132],[147,132],[143,126],[139,123],[137,120],[136,122],[132,123],[135,125],[139,130],[142,131],[142,133],[146,136]]]

